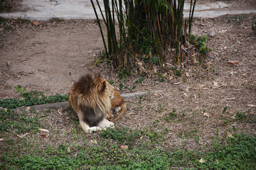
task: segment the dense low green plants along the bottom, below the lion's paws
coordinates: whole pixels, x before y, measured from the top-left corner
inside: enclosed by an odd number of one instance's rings
[[[102,132],[97,145],[89,146],[88,140],[84,140],[85,146],[62,143],[31,153],[6,151],[1,155],[0,169],[254,169],[256,166],[256,136],[235,135],[226,144],[216,140],[206,152],[197,152],[160,149],[142,141],[135,143],[141,133],[127,128],[109,129]],[[127,140],[129,148],[120,149],[119,145]],[[29,145],[23,142],[23,147]],[[201,158],[206,162],[200,163]]]

